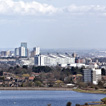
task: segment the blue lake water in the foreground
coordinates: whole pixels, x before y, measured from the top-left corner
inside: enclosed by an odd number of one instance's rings
[[[68,101],[84,104],[99,101],[105,94],[78,93],[74,91],[0,91],[0,106],[66,106]]]

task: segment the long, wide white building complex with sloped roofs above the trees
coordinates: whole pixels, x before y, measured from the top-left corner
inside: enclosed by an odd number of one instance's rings
[[[75,58],[67,55],[36,55],[35,56],[35,65],[37,66],[67,66],[75,63]]]

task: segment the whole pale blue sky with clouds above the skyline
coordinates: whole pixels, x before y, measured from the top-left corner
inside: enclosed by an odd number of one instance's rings
[[[106,48],[106,0],[0,0],[0,48]]]

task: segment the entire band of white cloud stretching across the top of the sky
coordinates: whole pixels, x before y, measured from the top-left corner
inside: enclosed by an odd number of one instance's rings
[[[101,5],[70,5],[56,8],[52,5],[36,1],[0,0],[0,15],[50,15],[69,13],[71,15],[97,14],[106,16],[106,6]]]

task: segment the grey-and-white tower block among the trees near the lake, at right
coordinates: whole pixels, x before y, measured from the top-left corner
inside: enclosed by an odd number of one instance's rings
[[[101,80],[101,69],[84,69],[83,70],[83,79],[85,83],[98,84],[98,81]]]

